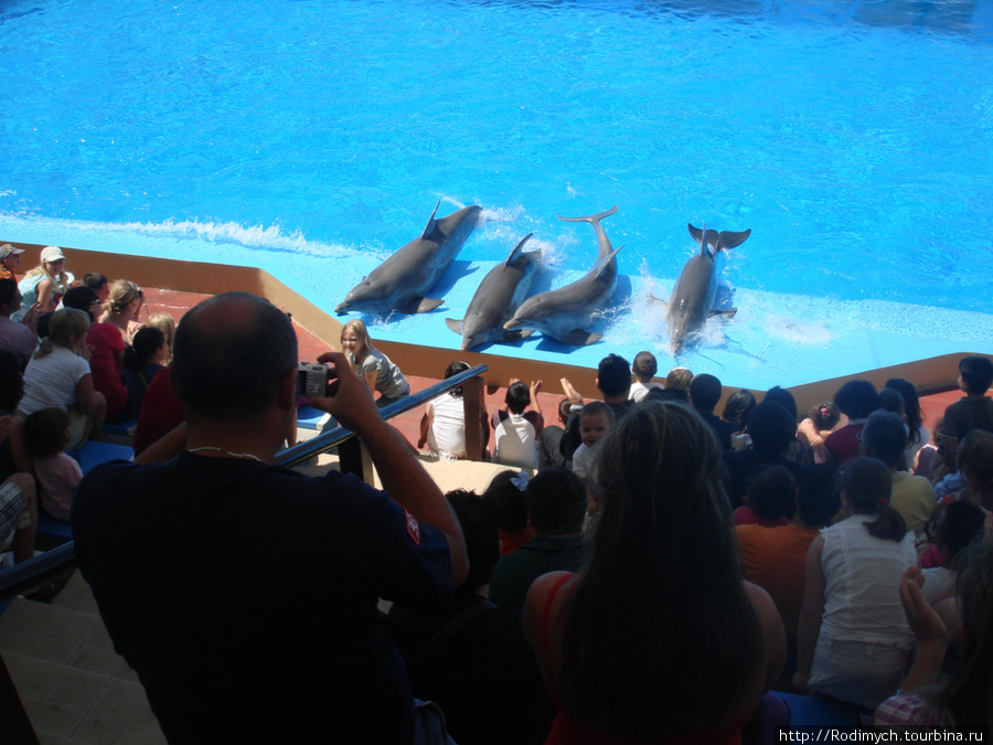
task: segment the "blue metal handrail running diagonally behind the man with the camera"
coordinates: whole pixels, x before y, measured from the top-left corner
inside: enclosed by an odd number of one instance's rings
[[[487,372],[487,365],[478,364],[465,372],[435,383],[424,391],[384,406],[380,411],[380,415],[384,419],[392,419],[399,414],[409,412],[412,408],[423,406],[431,398],[462,385]],[[334,429],[321,433],[306,443],[300,443],[276,454],[276,464],[285,467],[299,465],[314,456],[327,453],[333,447],[338,447],[353,437],[355,437],[355,433],[351,429],[345,429],[341,426],[334,427]],[[29,589],[54,579],[60,574],[75,566],[75,541],[70,541],[33,558],[29,558],[26,562],[21,562],[4,572],[0,572],[0,603],[6,603]]]

